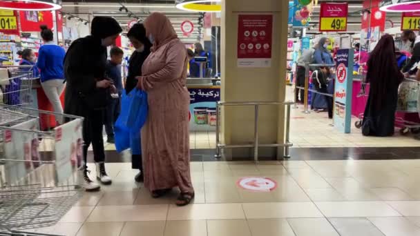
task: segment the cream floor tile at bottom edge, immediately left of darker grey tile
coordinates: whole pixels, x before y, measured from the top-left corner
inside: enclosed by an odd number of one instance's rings
[[[339,236],[325,218],[287,219],[298,236]]]

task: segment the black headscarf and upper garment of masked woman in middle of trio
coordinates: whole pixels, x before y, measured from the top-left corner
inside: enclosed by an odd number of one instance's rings
[[[126,80],[126,93],[130,92],[137,85],[135,77],[142,75],[142,66],[147,57],[149,57],[152,43],[147,39],[146,29],[142,23],[135,23],[133,27],[128,30],[127,37],[133,37],[144,44],[144,51],[134,51],[130,57],[128,65],[128,75]]]

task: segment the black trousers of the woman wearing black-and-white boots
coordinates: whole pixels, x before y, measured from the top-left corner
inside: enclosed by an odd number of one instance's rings
[[[102,129],[104,126],[104,110],[90,110],[83,121],[83,157],[86,165],[88,157],[88,148],[93,146],[93,157],[95,162],[105,161],[104,137]]]

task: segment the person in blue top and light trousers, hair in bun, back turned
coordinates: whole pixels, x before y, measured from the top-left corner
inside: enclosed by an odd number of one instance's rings
[[[60,95],[64,90],[64,48],[58,46],[53,40],[53,31],[47,26],[41,26],[41,37],[44,45],[39,48],[37,67],[41,70],[41,86],[45,95],[53,105],[55,112],[63,113]],[[55,117],[57,124],[63,124],[63,117]]]

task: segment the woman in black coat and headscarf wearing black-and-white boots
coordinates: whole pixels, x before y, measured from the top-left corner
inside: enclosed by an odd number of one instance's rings
[[[105,171],[103,112],[106,101],[115,89],[111,80],[106,79],[106,47],[115,44],[122,28],[112,17],[95,17],[91,23],[91,35],[74,41],[64,59],[66,77],[66,97],[64,112],[84,117],[84,180],[86,190],[99,190],[99,185],[88,177],[86,156],[90,144],[93,146],[97,179],[102,184],[111,184]]]

